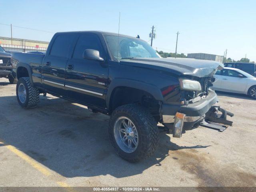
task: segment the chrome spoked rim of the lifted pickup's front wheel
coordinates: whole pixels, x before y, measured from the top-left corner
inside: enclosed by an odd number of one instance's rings
[[[119,117],[114,124],[114,136],[118,146],[126,153],[132,153],[138,147],[138,132],[127,117]]]

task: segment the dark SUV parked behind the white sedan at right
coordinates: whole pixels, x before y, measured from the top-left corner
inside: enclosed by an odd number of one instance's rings
[[[254,77],[256,77],[256,63],[224,63],[224,67],[232,67],[240,69]]]

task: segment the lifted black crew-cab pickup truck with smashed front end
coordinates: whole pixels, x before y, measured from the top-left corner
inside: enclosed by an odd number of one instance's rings
[[[139,38],[108,32],[56,33],[46,54],[14,53],[16,94],[33,108],[50,93],[107,114],[116,152],[138,162],[158,146],[158,122],[180,137],[218,102],[212,76],[223,64],[160,58]]]

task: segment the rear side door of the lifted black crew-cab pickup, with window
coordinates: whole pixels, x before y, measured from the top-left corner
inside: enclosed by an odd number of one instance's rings
[[[64,96],[66,63],[75,43],[75,34],[57,34],[51,43],[42,65],[42,83],[48,92]]]

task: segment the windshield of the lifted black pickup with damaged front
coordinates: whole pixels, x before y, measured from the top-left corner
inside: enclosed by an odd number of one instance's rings
[[[125,58],[159,58],[158,53],[145,41],[116,35],[104,35],[114,60]],[[118,51],[117,51],[118,49]]]

